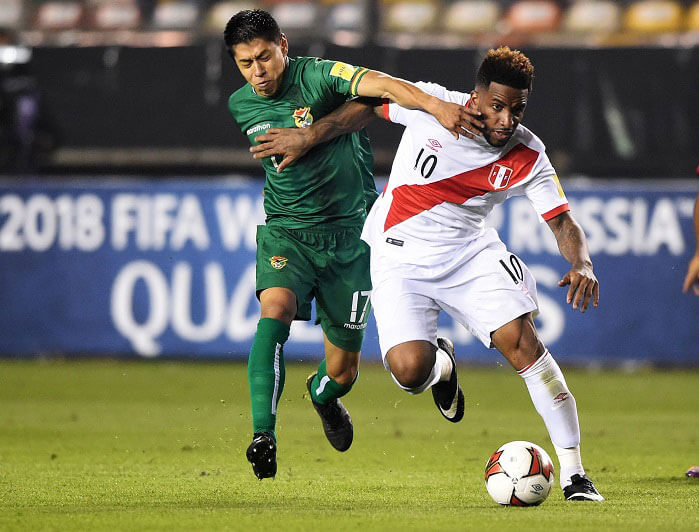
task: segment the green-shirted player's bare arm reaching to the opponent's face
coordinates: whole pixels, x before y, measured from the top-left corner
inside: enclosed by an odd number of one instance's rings
[[[459,135],[473,138],[482,135],[484,124],[480,113],[463,105],[445,102],[426,93],[416,85],[383,72],[369,70],[357,85],[357,94],[389,99],[406,109],[421,109],[433,115],[457,139]]]

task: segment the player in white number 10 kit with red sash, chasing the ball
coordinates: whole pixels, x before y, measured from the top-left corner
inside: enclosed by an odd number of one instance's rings
[[[485,226],[495,205],[526,195],[571,264],[558,283],[568,286],[567,303],[582,312],[590,303],[598,305],[599,283],[585,234],[570,214],[543,143],[520,124],[533,77],[524,54],[501,47],[486,55],[470,94],[418,84],[481,112],[482,136],[473,140],[454,138],[421,111],[389,102],[376,108],[405,132],[362,234],[371,246],[371,300],[384,364],[401,389],[415,394],[431,388],[445,418],[463,417],[454,347],[437,337],[437,317],[447,312],[487,347],[497,348],[524,379],[558,455],[565,498],[601,501],[582,465],[575,399],[534,325],[534,278]],[[345,112],[342,120],[335,119],[342,123],[336,132],[361,122]],[[321,133],[321,127],[317,137],[304,132],[287,137],[283,149],[271,143],[253,151],[260,156],[280,150],[288,156],[289,139],[303,138],[306,144],[298,145],[303,149],[292,156],[298,157],[309,145],[327,140],[327,128]]]

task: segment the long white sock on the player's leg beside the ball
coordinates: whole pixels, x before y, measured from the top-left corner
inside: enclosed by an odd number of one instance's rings
[[[575,397],[568,390],[561,368],[548,350],[539,360],[518,373],[524,379],[534,407],[543,418],[558,453],[561,484],[570,483],[570,476],[583,470]],[[561,459],[559,449],[564,451],[564,459]]]

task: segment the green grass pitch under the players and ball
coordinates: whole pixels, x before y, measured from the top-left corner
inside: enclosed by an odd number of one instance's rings
[[[486,459],[514,439],[554,456],[511,370],[462,367],[467,414],[364,365],[337,453],[287,366],[279,471],[254,478],[245,366],[0,361],[0,530],[698,530],[699,372],[566,371],[583,458],[604,503],[537,508],[488,497]]]

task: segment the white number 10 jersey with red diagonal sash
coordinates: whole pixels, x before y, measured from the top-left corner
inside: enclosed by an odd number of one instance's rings
[[[416,85],[461,105],[470,98],[434,83]],[[385,103],[384,115],[405,131],[386,188],[364,225],[369,245],[412,249],[414,258],[449,252],[485,236],[488,213],[512,196],[526,195],[543,220],[569,210],[544,144],[526,127],[494,147],[481,137],[455,139],[423,111]]]

